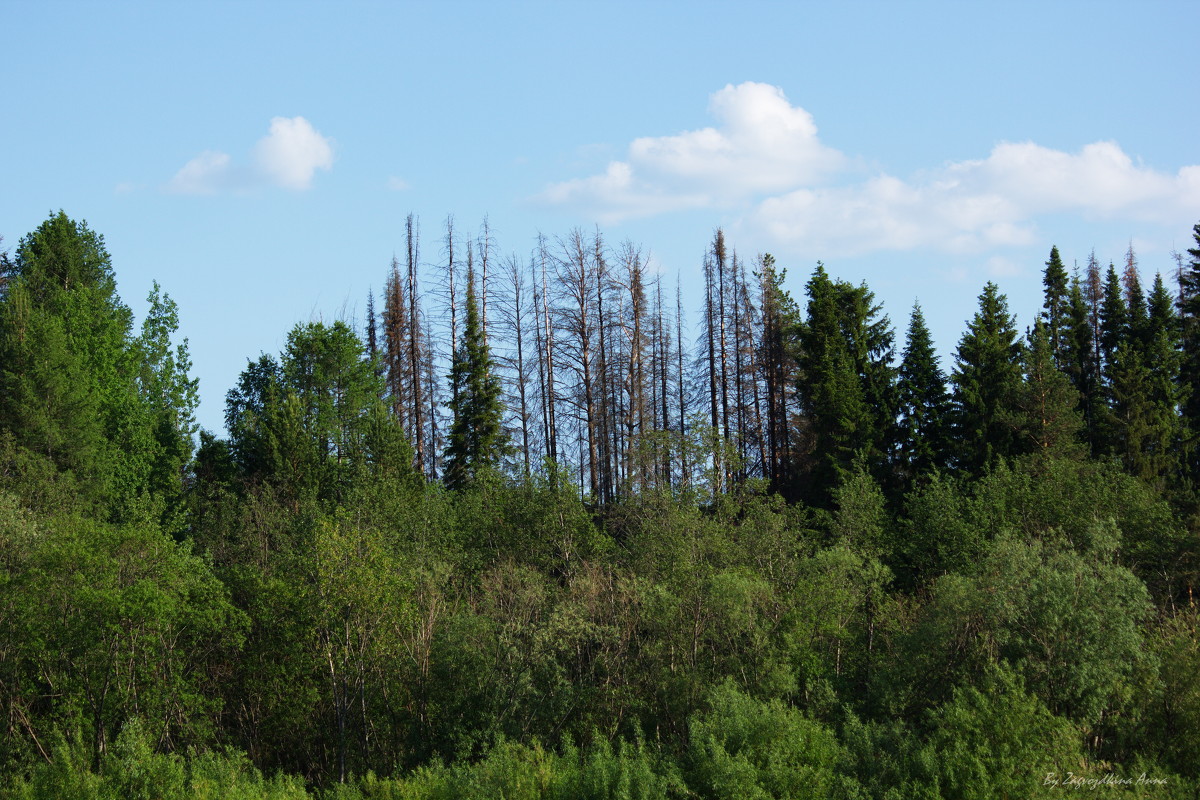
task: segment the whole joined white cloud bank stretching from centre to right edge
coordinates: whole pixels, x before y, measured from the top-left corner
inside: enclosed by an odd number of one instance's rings
[[[732,211],[773,245],[829,255],[1026,245],[1045,213],[1172,224],[1200,213],[1200,166],[1163,173],[1114,142],[1079,152],[1001,143],[984,158],[907,179],[851,180],[862,174],[847,169],[856,162],[822,143],[811,114],[776,86],[728,85],[709,112],[718,126],[635,139],[604,173],[554,184],[541,199],[604,222]]]

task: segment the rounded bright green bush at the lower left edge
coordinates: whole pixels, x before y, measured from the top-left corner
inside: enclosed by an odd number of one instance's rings
[[[133,717],[158,746],[209,741],[220,710],[210,658],[239,645],[245,616],[208,565],[154,529],[60,519],[35,530],[10,546],[11,708],[41,726],[78,720],[97,763]],[[32,723],[20,735],[44,748]]]

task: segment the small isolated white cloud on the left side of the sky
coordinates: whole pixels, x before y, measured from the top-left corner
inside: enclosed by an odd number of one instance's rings
[[[276,116],[251,154],[251,164],[234,163],[227,152],[205,150],[188,161],[167,184],[180,194],[278,186],[293,191],[312,186],[316,170],[334,166],[332,140],[323,137],[302,116]]]

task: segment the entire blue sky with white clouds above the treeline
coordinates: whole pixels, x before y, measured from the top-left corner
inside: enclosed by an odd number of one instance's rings
[[[5,246],[64,209],[179,302],[200,422],[246,359],[361,317],[420,217],[503,253],[599,224],[688,290],[713,230],[817,259],[949,368],[1051,245],[1146,281],[1200,221],[1200,4],[0,0]],[[695,302],[692,303],[696,305]]]

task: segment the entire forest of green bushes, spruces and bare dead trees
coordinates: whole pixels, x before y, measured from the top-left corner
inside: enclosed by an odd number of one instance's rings
[[[409,216],[211,432],[52,213],[0,246],[0,796],[1195,798],[1192,235],[1051,249],[1024,332],[988,283],[943,367],[721,230],[685,308]]]

